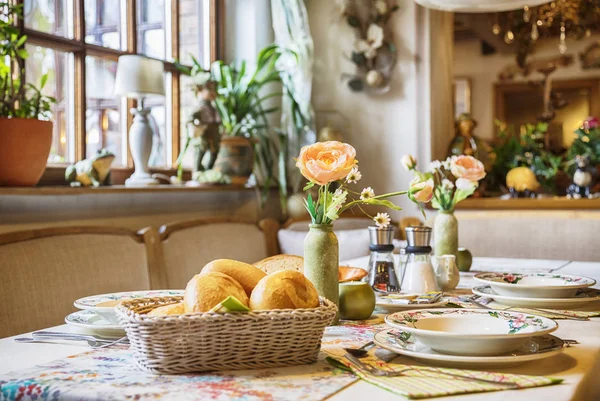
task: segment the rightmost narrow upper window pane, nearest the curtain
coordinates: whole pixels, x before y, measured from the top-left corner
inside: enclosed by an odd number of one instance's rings
[[[180,0],[179,2],[179,59],[184,64],[192,62],[192,55],[204,68],[210,60],[210,33],[204,23],[204,12],[208,12],[209,0]]]

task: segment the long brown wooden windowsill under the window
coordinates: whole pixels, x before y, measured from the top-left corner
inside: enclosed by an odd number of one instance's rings
[[[203,185],[188,187],[185,185],[152,185],[147,187],[126,187],[125,185],[106,185],[101,187],[0,187],[0,195],[100,195],[118,193],[177,193],[177,192],[233,192],[254,191],[254,187],[245,185]]]

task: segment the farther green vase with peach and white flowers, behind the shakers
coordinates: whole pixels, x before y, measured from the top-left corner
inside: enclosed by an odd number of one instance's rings
[[[458,221],[454,207],[471,196],[485,177],[483,163],[473,156],[452,156],[431,162],[423,173],[416,169],[415,158],[405,155],[402,165],[415,173],[408,197],[422,203],[431,201],[431,206],[440,211],[433,226],[436,256],[457,255]]]

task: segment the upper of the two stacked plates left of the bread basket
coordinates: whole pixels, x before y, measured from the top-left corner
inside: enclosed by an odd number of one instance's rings
[[[170,297],[182,296],[183,290],[150,290],[150,291],[128,291],[114,292],[112,294],[91,295],[80,298],[73,303],[77,309],[93,310],[104,316],[105,319],[117,323],[115,306],[121,301],[135,298]]]

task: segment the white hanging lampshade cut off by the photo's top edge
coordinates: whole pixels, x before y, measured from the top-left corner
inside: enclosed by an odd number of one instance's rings
[[[423,7],[455,13],[492,13],[535,7],[549,0],[415,0]]]

